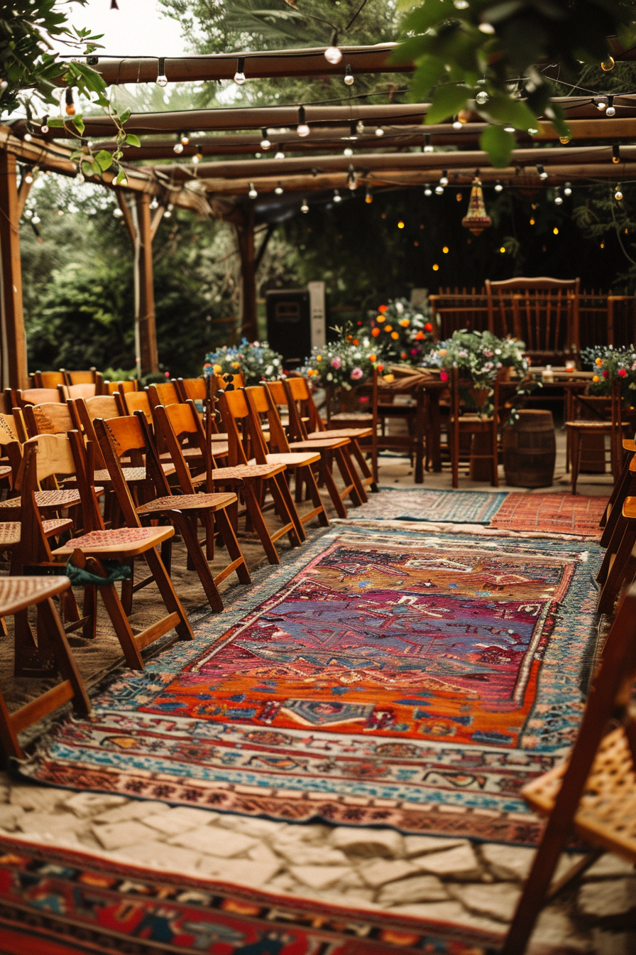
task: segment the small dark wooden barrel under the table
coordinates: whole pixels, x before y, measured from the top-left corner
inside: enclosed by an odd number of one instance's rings
[[[548,487],[554,475],[557,441],[552,412],[523,410],[502,429],[503,470],[512,487]]]

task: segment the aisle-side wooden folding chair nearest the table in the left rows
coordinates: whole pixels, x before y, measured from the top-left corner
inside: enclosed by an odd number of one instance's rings
[[[326,447],[330,440],[345,441],[345,444],[340,446],[342,449],[342,456],[346,461],[347,468],[351,473],[354,484],[356,485],[359,499],[362,502],[366,501],[368,498],[365,488],[373,486],[374,479],[371,469],[369,468],[369,465],[367,464],[364,455],[361,453],[359,448],[359,437],[356,435],[356,432],[362,429],[352,428],[347,430],[346,428],[334,428],[331,434],[325,430],[320,432],[319,435],[310,435],[307,431],[307,424],[305,421],[307,415],[303,414],[303,410],[307,407],[307,404],[311,399],[311,393],[306,380],[301,377],[290,377],[284,378],[281,383],[272,382],[273,388],[270,390],[272,397],[274,397],[275,393],[277,393],[277,395],[279,394],[279,389],[277,389],[278,384],[282,384],[283,391],[287,399],[286,407],[289,416],[289,434],[292,440],[292,450],[296,450],[296,448],[298,451],[301,450],[301,442],[319,442],[322,446]],[[372,429],[369,429],[369,431],[371,434],[373,434]],[[358,462],[359,470],[356,469],[356,465],[354,464],[354,457]]]

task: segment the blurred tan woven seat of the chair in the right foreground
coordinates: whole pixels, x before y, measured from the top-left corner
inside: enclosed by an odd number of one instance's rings
[[[523,787],[522,795],[544,815],[552,811],[566,763]],[[578,832],[636,862],[636,772],[623,727],[608,732],[585,784],[574,823]]]

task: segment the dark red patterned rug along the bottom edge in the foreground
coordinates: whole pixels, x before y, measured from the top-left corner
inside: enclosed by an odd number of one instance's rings
[[[482,955],[496,941],[0,838],[0,951],[10,955]]]

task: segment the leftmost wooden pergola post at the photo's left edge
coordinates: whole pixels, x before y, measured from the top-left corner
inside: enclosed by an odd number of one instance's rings
[[[15,157],[3,151],[0,152],[0,321],[3,388],[29,387],[18,223]]]

